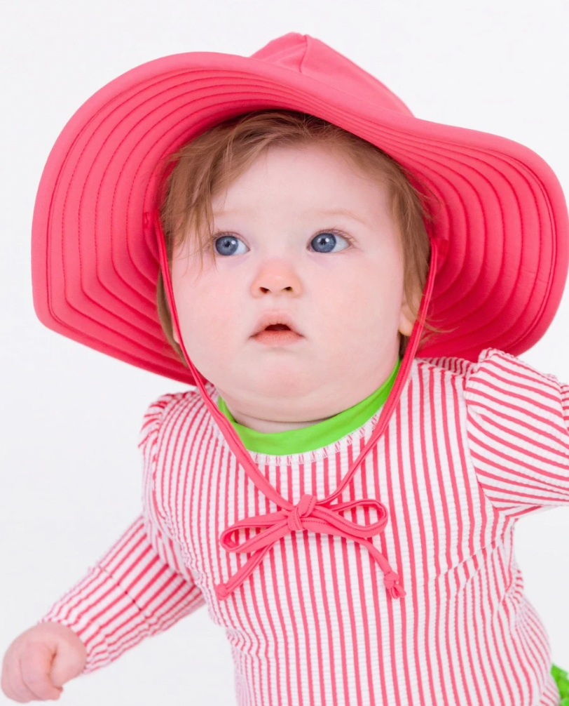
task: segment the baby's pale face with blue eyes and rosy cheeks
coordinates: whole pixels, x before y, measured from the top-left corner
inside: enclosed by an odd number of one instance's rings
[[[233,417],[286,431],[371,395],[396,364],[398,330],[412,330],[383,187],[329,148],[279,147],[212,207],[216,268],[206,250],[200,273],[186,240],[172,285],[188,355]],[[302,338],[254,340],[269,310],[288,312]]]

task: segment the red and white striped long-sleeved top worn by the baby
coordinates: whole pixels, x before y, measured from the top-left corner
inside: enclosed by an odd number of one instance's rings
[[[378,417],[312,452],[250,453],[291,503],[328,496]],[[162,395],[140,434],[140,516],[39,622],[78,633],[88,673],[205,604],[226,628],[240,706],[558,705],[513,529],[521,515],[569,503],[568,421],[569,385],[498,349],[476,363],[415,359],[384,435],[338,498],[386,505],[373,543],[405,597],[388,596],[356,542],[295,531],[219,601],[214,585],[248,558],[227,553],[219,534],[279,508],[199,393]],[[368,508],[346,517],[377,520]]]

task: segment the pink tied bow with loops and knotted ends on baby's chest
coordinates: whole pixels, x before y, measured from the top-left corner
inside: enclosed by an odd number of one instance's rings
[[[216,585],[217,597],[220,600],[226,599],[229,594],[247,579],[275,542],[289,532],[298,530],[335,534],[338,537],[353,539],[353,541],[363,544],[377,561],[381,570],[383,570],[384,585],[388,594],[392,598],[405,596],[405,591],[400,585],[398,575],[391,569],[384,555],[367,539],[383,532],[388,519],[385,505],[373,498],[362,498],[348,503],[336,503],[336,505],[326,505],[324,504],[326,502],[322,501],[322,503],[319,503],[317,498],[305,493],[300,498],[300,501],[289,510],[279,510],[276,513],[245,517],[245,519],[238,520],[234,525],[227,527],[226,530],[221,532],[219,541],[224,549],[227,551],[251,552],[252,556],[227,582]],[[379,520],[372,522],[370,525],[357,525],[339,514],[343,510],[350,510],[358,505],[374,507],[377,510]],[[264,527],[264,530],[253,535],[245,542],[239,544],[231,538],[233,533],[239,534],[242,528],[251,530],[256,527]]]

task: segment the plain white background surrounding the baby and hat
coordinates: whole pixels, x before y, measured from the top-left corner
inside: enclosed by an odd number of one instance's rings
[[[496,133],[544,157],[569,193],[565,0],[61,0],[0,16],[0,652],[82,577],[140,510],[140,421],[184,385],[44,328],[32,306],[39,177],[73,112],[129,68],[192,51],[249,55],[317,37],[431,121]],[[521,357],[569,382],[569,297]],[[522,518],[516,556],[553,661],[569,669],[569,508]],[[64,687],[73,706],[235,703],[223,630],[205,608]],[[13,703],[0,693],[0,705]],[[379,706],[379,705],[378,705]]]

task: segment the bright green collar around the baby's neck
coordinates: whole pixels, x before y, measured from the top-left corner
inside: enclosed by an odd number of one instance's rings
[[[368,419],[371,419],[387,400],[400,365],[401,359],[399,358],[387,380],[365,400],[357,402],[357,405],[353,405],[353,407],[344,409],[343,412],[335,414],[334,417],[319,421],[318,424],[305,426],[302,429],[263,433],[262,431],[250,429],[248,426],[243,426],[243,424],[238,424],[233,414],[228,410],[224,400],[221,399],[221,395],[218,397],[217,406],[219,411],[231,421],[233,428],[248,450],[276,456],[305,453],[305,451],[313,451],[338,441],[338,439],[355,431],[355,429],[359,429]]]

